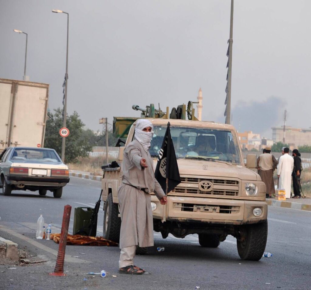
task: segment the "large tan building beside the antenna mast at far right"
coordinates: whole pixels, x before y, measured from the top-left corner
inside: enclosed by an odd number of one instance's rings
[[[283,142],[283,127],[272,127],[272,140],[274,142]],[[285,126],[285,143],[292,147],[302,145],[311,145],[311,128],[300,129]]]

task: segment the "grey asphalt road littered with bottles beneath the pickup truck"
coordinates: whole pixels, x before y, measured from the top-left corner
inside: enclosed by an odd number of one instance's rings
[[[72,206],[73,220],[74,207],[94,206],[99,195],[100,182],[75,177],[63,189],[61,199],[49,192],[45,197],[22,191],[0,194],[0,236],[47,261],[0,265],[0,289],[311,289],[311,212],[270,206],[266,251],[273,256],[257,262],[239,259],[232,236],[218,248],[209,249],[199,245],[197,235],[162,239],[155,233],[155,246],[163,246],[165,251],[152,249],[149,255],[135,258],[135,264],[151,274],[118,274],[118,247],[67,246],[67,276],[49,276],[58,244],[35,239],[37,218],[42,214],[45,223],[52,224],[52,231],[60,232],[66,204]],[[103,218],[101,206],[98,235],[102,234]],[[84,274],[100,270],[108,272],[106,278]]]

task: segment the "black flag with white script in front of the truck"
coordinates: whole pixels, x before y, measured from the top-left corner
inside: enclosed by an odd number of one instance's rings
[[[169,193],[180,183],[176,154],[169,126],[170,124],[167,123],[155,171],[156,180],[158,180],[165,194]]]

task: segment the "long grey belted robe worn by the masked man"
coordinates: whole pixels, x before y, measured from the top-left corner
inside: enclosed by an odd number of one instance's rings
[[[147,168],[140,161],[146,159]],[[160,200],[165,193],[155,179],[153,160],[148,151],[134,140],[123,154],[122,184],[118,188],[121,215],[120,248],[138,245],[153,246],[153,220],[151,197],[154,192]]]

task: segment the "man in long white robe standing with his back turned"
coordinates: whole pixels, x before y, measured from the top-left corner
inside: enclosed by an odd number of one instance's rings
[[[285,197],[290,198],[291,174],[294,169],[294,158],[289,155],[290,149],[284,148],[284,155],[279,158],[277,165],[277,177],[279,178],[279,188],[285,189]]]

